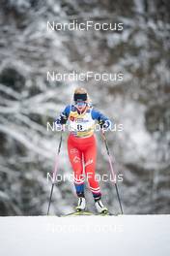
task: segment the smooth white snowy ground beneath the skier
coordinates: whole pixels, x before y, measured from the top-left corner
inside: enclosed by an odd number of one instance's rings
[[[170,215],[0,217],[1,256],[169,256]]]

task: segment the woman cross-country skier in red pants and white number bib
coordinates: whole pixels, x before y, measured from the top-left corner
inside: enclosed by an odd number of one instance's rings
[[[68,105],[56,120],[57,124],[64,125],[69,121],[71,133],[68,138],[68,153],[73,169],[74,185],[78,197],[77,211],[86,208],[84,196],[84,174],[87,177],[89,188],[92,191],[95,206],[99,213],[107,212],[101,202],[99,182],[95,176],[97,143],[94,136],[96,120],[101,128],[108,129],[110,120],[93,108],[89,95],[84,88],[77,88],[73,94],[73,104]]]

